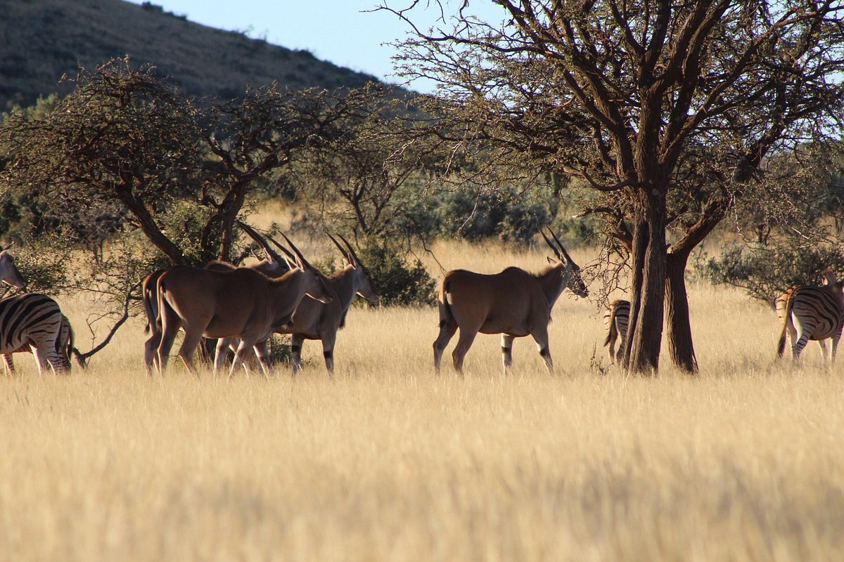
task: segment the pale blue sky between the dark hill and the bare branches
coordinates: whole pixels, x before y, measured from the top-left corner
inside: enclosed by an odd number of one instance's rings
[[[130,0],[142,3],[143,0]],[[429,27],[439,15],[436,3],[425,8],[429,0],[421,0],[422,8],[414,8],[414,22]],[[306,49],[322,60],[367,72],[389,83],[390,57],[395,50],[383,45],[403,39],[408,26],[392,13],[367,13],[378,0],[152,0],[166,11],[186,15],[197,24],[246,32],[273,45],[290,49]],[[393,8],[403,8],[412,0],[389,0]],[[457,9],[459,0],[443,1],[446,8]],[[501,8],[490,0],[472,3],[478,13],[500,19]],[[436,9],[435,9],[436,8]],[[413,83],[411,88],[429,92],[430,83]]]

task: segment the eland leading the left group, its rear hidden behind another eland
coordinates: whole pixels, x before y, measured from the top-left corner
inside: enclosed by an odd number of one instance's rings
[[[301,368],[302,344],[305,340],[322,341],[322,356],[325,358],[325,367],[329,373],[333,372],[334,343],[337,340],[337,332],[345,324],[346,313],[349,312],[354,296],[360,295],[372,304],[377,304],[379,299],[372,284],[369,270],[360,262],[358,254],[354,252],[349,241],[340,236],[346,245],[344,249],[333,236],[329,234],[328,238],[331,238],[334,245],[338,247],[344,260],[343,269],[327,278],[336,298],[333,302],[328,303],[322,303],[312,298],[303,298],[290,318],[290,322],[274,329],[276,334],[291,335],[290,363],[294,375]],[[273,238],[270,238],[270,240],[273,243],[275,242]],[[230,342],[223,340],[218,342],[217,361],[222,362],[220,358],[229,345]],[[255,352],[259,359],[267,361],[267,342],[259,342]]]

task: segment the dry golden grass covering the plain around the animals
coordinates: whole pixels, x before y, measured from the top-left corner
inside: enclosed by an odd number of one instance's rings
[[[328,248],[315,244],[314,248]],[[448,268],[544,254],[440,244]],[[587,251],[574,257],[587,261]],[[439,271],[433,263],[431,271]],[[438,274],[439,275],[439,274]],[[776,314],[692,284],[701,374],[607,366],[565,293],[557,375],[479,336],[437,377],[434,309],[349,313],[337,372],[143,372],[139,321],[71,377],[0,378],[0,559],[841,560],[844,367],[774,361]],[[62,302],[88,349],[84,302]]]

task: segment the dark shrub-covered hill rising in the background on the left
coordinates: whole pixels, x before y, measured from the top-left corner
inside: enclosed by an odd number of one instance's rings
[[[359,87],[376,78],[236,31],[195,24],[154,3],[3,0],[0,110],[67,93],[62,74],[115,56],[151,63],[192,96],[234,98],[277,80],[289,88]]]

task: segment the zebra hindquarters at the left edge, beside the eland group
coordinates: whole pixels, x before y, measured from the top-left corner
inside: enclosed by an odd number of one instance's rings
[[[0,354],[8,355],[29,345],[38,372],[46,364],[55,374],[70,372],[68,354],[57,351],[62,338],[62,318],[58,303],[46,295],[27,292],[0,300]],[[70,323],[67,326],[69,330]]]

